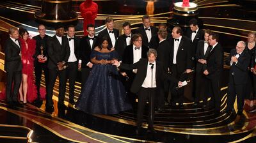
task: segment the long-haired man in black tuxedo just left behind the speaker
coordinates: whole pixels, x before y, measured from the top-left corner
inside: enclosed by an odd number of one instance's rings
[[[147,58],[148,48],[142,45],[141,34],[132,34],[131,45],[127,46],[124,50],[124,56],[122,57],[122,63],[133,64],[140,61],[141,58]],[[128,92],[130,102],[132,105],[135,103],[136,94],[129,92],[133,79],[137,73],[137,70],[121,70],[121,74],[126,77],[125,88]],[[133,106],[134,107],[134,106]]]

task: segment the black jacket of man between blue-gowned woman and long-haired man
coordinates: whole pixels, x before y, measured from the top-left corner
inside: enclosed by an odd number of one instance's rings
[[[131,43],[130,43],[131,45]],[[118,53],[119,59],[122,59],[122,56],[124,54],[124,49],[129,46],[126,43],[126,36],[125,34],[122,34],[118,37],[115,45],[115,50]]]

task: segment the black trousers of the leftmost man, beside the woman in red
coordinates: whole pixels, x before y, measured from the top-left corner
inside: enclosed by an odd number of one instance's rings
[[[6,73],[6,100],[7,102],[17,102],[18,91],[21,82],[21,71]],[[12,90],[13,82],[13,90]]]

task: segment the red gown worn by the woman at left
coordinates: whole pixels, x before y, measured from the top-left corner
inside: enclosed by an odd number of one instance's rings
[[[34,79],[34,59],[33,55],[35,54],[36,41],[28,38],[28,49],[26,49],[26,43],[23,39],[20,40],[21,45],[21,59],[22,59],[22,74],[28,75],[28,93],[27,101],[32,103],[37,98],[37,91]]]

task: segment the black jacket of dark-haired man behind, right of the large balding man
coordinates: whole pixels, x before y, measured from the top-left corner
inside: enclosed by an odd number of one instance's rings
[[[188,36],[188,38],[191,40],[191,36],[192,36],[192,31],[191,29],[188,29],[188,32],[186,34],[186,36]],[[204,40],[204,31],[202,29],[198,29],[196,36],[194,38],[194,40],[192,41],[192,47],[193,47],[193,57],[196,54],[196,47],[197,47],[197,43],[200,40]]]

